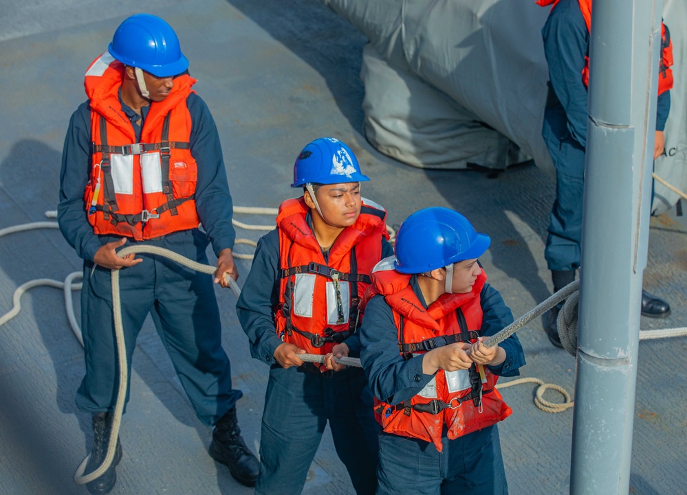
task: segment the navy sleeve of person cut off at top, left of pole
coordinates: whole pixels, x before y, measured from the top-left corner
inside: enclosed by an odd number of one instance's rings
[[[565,110],[571,136],[587,146],[587,88],[582,69],[589,50],[589,33],[576,2],[558,4],[542,30],[549,81]]]

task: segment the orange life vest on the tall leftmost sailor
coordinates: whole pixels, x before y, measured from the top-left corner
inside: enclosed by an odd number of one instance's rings
[[[102,54],[86,72],[91,106],[91,172],[84,200],[96,234],[146,240],[198,227],[198,170],[190,153],[186,97],[195,79],[174,79],[162,102],[151,102],[137,142],[122,111],[124,65]]]

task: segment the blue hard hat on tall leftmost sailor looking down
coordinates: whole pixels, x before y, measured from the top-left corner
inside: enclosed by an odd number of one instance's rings
[[[182,54],[171,25],[151,14],[125,19],[107,50],[122,64],[139,67],[158,78],[176,76],[188,69],[188,58]]]

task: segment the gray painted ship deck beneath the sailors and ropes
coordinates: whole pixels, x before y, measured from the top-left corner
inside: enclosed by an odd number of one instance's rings
[[[483,257],[490,282],[514,315],[545,299],[552,286],[543,259],[554,179],[532,165],[496,178],[481,172],[432,172],[382,156],[362,135],[360,60],[364,37],[314,0],[0,0],[0,228],[43,220],[56,208],[61,148],[69,116],[85,99],[83,73],[122,19],[163,16],[175,27],[217,121],[236,205],[276,207],[294,196],[296,154],[315,137],[349,143],[371,183],[364,196],[384,205],[397,226],[421,207],[466,214],[492,237]],[[237,216],[269,224],[268,217]],[[687,222],[673,213],[651,222],[645,287],[673,313],[642,319],[644,329],[687,325]],[[239,230],[239,237],[259,233]],[[244,251],[239,246],[237,251]],[[245,250],[250,252],[250,249]],[[58,231],[0,239],[0,314],[14,289],[40,277],[64,279],[80,260]],[[245,277],[249,262],[239,262]],[[224,347],[245,397],[239,422],[257,451],[268,368],[251,360],[235,299],[219,292]],[[23,311],[0,327],[0,494],[85,494],[72,474],[89,445],[89,417],[74,406],[83,352],[69,330],[63,296],[36,288]],[[519,332],[523,376],[574,390],[575,361],[549,344],[541,325]],[[685,494],[687,341],[640,347],[631,493]],[[149,322],[133,362],[131,402],[122,426],[124,459],[113,494],[242,494],[226,468],[206,454],[210,429],[195,417]],[[567,492],[572,411],[548,414],[530,385],[504,390],[514,409],[501,424],[512,494]],[[552,395],[552,400],[555,400]],[[352,493],[325,436],[305,493]]]

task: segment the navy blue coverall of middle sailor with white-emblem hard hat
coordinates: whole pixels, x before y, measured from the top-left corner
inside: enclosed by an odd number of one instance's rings
[[[312,222],[307,215],[308,225]],[[393,249],[382,239],[382,258]],[[325,260],[327,256],[325,255]],[[320,373],[311,363],[284,369],[274,360],[282,344],[272,308],[279,304],[279,232],[259,240],[236,312],[250,341],[250,354],[270,365],[260,440],[256,494],[300,494],[329,420],[334,447],[359,495],[375,492],[379,425],[372,393],[360,368]],[[360,355],[360,338],[345,341]]]

